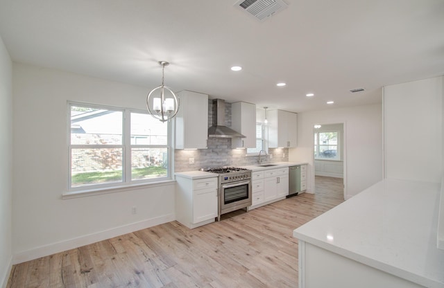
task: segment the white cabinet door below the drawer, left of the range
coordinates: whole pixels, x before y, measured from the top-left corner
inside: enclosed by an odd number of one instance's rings
[[[194,191],[193,223],[217,217],[217,188]]]

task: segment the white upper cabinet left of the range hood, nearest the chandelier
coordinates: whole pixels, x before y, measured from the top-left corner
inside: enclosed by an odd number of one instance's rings
[[[208,96],[180,91],[176,115],[176,149],[205,149],[208,136]]]

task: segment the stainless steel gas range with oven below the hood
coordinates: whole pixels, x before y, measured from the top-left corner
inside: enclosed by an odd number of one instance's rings
[[[210,168],[207,172],[219,174],[219,210],[221,215],[251,206],[251,170],[235,167]]]

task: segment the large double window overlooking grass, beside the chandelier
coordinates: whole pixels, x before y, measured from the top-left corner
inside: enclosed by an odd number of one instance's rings
[[[69,103],[69,189],[170,179],[169,124],[146,112]]]

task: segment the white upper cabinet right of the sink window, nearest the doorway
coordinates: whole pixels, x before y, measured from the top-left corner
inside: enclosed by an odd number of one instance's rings
[[[268,147],[296,147],[298,142],[298,114],[270,110],[268,120]]]

